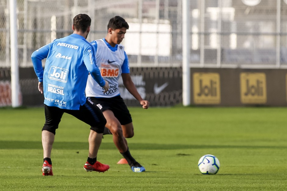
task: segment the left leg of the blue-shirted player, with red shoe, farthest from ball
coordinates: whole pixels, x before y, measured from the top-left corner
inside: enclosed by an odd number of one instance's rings
[[[43,146],[43,176],[52,176],[51,152],[55,140],[56,129],[59,126],[63,111],[58,107],[45,105],[45,124],[42,128],[42,146]]]

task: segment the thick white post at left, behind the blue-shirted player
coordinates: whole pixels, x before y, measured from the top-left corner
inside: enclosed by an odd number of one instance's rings
[[[19,107],[19,66],[16,0],[10,0],[10,55],[12,107]]]

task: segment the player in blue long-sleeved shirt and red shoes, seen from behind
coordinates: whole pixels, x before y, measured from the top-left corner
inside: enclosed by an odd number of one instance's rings
[[[44,93],[45,124],[42,128],[44,163],[43,176],[52,176],[51,151],[56,129],[64,113],[73,115],[91,126],[87,172],[105,172],[109,165],[97,161],[99,146],[106,124],[100,109],[85,97],[85,86],[90,73],[95,83],[107,92],[106,82],[96,65],[95,48],[86,40],[91,28],[91,18],[79,14],[73,19],[73,34],[56,39],[31,55],[38,76],[38,90]],[[45,69],[42,60],[46,59]],[[68,168],[72,168],[67,164]]]

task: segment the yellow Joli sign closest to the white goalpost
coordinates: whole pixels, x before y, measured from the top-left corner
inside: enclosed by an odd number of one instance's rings
[[[220,104],[218,73],[193,73],[193,101],[195,104]]]

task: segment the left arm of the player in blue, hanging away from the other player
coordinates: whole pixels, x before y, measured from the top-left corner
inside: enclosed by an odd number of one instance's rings
[[[31,55],[31,60],[33,63],[34,71],[38,77],[38,90],[43,94],[43,66],[42,60],[47,58],[49,50],[50,50],[51,43],[42,46],[38,50],[34,51]]]

